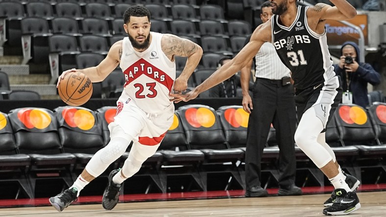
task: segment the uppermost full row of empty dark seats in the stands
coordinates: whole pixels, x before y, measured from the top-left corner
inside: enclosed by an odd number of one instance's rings
[[[24,5],[17,2],[0,2],[1,15],[9,18],[15,17],[98,17],[106,20],[122,18],[124,11],[131,4],[120,3],[109,6],[103,3],[87,3],[81,6],[77,3],[64,2],[51,5],[47,2],[29,2]],[[82,8],[84,7],[84,8]],[[162,4],[145,4],[155,19],[171,20],[218,20],[226,22],[223,9],[218,5],[202,5],[193,7],[190,4],[173,4],[166,7]],[[170,10],[170,11],[169,11]],[[196,11],[198,13],[196,13]]]

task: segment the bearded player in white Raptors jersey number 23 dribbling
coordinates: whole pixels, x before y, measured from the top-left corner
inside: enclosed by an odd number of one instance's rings
[[[109,186],[103,195],[103,208],[111,210],[117,205],[121,183],[136,174],[145,160],[157,151],[173,122],[174,104],[169,100],[169,93],[182,92],[188,87],[188,79],[202,56],[201,47],[189,40],[150,32],[150,12],[144,6],[128,8],[123,19],[128,37],[114,43],[99,65],[67,70],[58,80],[57,87],[66,74],[79,71],[92,82],[100,82],[118,65],[126,80],[117,102],[114,122],[109,124],[109,144],[95,153],[69,189],[49,198],[59,212],[69,206],[90,181],[121,157],[133,141],[122,169],[110,173]],[[175,56],[188,57],[177,79]]]

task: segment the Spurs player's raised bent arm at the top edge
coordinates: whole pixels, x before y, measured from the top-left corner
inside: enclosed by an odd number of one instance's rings
[[[318,3],[312,7],[315,16],[319,16],[319,20],[336,20],[345,21],[353,19],[357,15],[357,10],[346,0],[330,0],[334,7]]]

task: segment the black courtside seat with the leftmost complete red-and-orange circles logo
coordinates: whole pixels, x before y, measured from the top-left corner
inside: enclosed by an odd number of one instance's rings
[[[31,157],[28,176],[32,193],[35,193],[37,179],[61,178],[63,187],[69,187],[73,182],[71,169],[76,157],[63,153],[53,112],[43,108],[20,108],[11,110],[8,117],[19,152]]]

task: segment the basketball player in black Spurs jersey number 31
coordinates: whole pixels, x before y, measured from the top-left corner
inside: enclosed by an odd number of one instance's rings
[[[347,215],[361,207],[355,189],[359,181],[342,173],[332,149],[325,142],[325,128],[342,97],[341,81],[334,73],[327,47],[326,20],[349,20],[357,11],[346,0],[296,6],[296,0],[271,0],[271,22],[258,26],[236,57],[219,68],[191,92],[170,94],[174,102],[189,101],[228,79],[252,59],[265,42],[273,43],[282,62],[292,72],[299,126],[295,142],[334,185],[325,215]],[[327,204],[331,202],[330,204]]]

